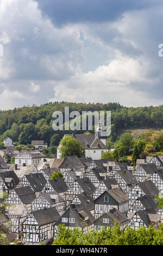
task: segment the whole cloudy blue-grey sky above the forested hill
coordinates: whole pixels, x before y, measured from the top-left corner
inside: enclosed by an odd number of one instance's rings
[[[0,109],[162,105],[162,21],[162,0],[0,0]]]

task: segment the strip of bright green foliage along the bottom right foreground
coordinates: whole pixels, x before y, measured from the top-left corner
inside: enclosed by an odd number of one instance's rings
[[[114,222],[101,231],[87,233],[77,228],[66,228],[64,224],[59,225],[53,245],[163,245],[163,224],[160,223],[158,228],[149,225],[148,228],[127,227],[124,230]]]

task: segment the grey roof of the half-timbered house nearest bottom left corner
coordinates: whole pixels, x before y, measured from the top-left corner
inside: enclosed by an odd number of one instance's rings
[[[46,225],[49,223],[56,222],[60,217],[55,207],[32,211],[32,214],[39,225]]]

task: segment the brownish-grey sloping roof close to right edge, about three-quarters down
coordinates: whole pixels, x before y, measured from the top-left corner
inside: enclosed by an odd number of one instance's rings
[[[143,182],[137,183],[141,190],[148,196],[154,197],[159,195],[158,188],[153,184],[152,180],[146,180]]]

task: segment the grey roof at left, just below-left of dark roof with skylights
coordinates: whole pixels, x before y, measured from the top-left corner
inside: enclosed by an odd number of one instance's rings
[[[29,186],[17,187],[14,190],[23,204],[30,204],[36,198],[35,192]]]

